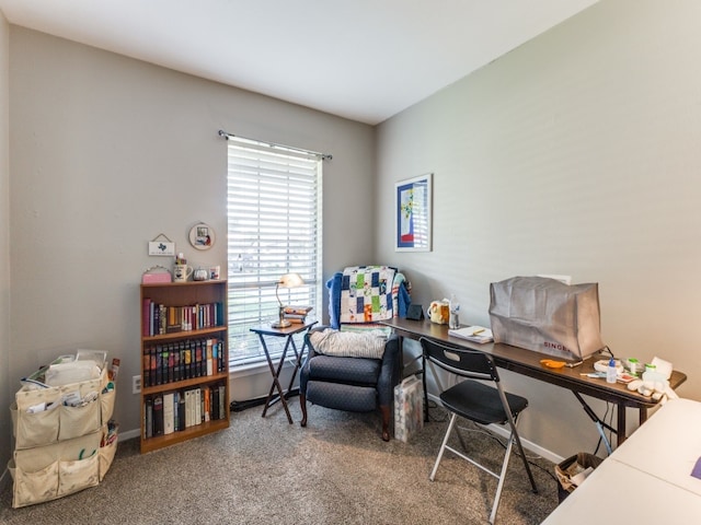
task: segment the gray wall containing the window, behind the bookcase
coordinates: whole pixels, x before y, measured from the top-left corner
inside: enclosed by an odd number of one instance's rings
[[[18,26],[10,40],[12,390],[62,351],[107,350],[122,360],[115,417],[138,429],[139,282],[169,264],[148,257],[147,242],[164,233],[192,264],[226,267],[219,129],[332,153],[324,278],[371,258],[372,192],[363,190],[367,213],[348,199],[372,184],[371,127]],[[186,242],[199,221],[217,233],[207,252]]]

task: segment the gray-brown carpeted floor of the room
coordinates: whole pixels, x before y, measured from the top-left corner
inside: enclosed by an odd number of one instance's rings
[[[486,523],[496,479],[447,453],[428,480],[446,429],[443,409],[409,443],[380,439],[379,415],[310,407],[299,425],[279,405],[232,412],[222,432],[140,455],[138,440],[119,443],[97,487],[59,500],[12,509],[11,483],[0,493],[0,523],[22,524],[479,524]],[[472,454],[493,458],[502,446],[470,429]],[[530,491],[512,458],[497,523],[538,524],[558,504],[553,465],[533,459],[540,492]]]

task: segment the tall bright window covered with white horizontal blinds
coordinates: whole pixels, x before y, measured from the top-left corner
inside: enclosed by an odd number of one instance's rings
[[[229,364],[263,361],[251,327],[278,316],[276,283],[284,273],[304,280],[280,288],[280,302],[312,306],[321,317],[322,156],[228,136]],[[268,345],[272,353],[280,347]],[[298,348],[299,345],[298,345]]]

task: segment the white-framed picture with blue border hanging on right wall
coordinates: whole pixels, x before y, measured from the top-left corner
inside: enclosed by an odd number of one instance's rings
[[[430,252],[433,173],[400,180],[394,189],[394,249]]]

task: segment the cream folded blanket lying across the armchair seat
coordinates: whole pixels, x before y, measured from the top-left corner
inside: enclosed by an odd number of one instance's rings
[[[382,359],[387,335],[382,330],[355,332],[326,328],[312,331],[309,342],[314,351],[325,355]]]

